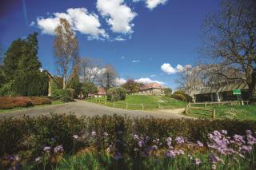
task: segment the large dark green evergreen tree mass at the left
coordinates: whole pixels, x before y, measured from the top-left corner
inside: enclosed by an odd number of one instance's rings
[[[38,61],[38,34],[30,34],[25,40],[14,41],[6,51],[2,70],[5,80],[14,81],[12,89],[5,93],[19,96],[42,96],[47,93],[46,75],[40,72]],[[1,77],[0,73],[0,77]]]

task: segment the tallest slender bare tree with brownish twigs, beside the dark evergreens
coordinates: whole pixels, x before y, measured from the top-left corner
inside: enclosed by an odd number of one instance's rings
[[[70,77],[72,63],[78,54],[78,40],[66,19],[60,19],[60,25],[55,30],[54,52],[58,69],[63,77],[63,89],[66,89]]]

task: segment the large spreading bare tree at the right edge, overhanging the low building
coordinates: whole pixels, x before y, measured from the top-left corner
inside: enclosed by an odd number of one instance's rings
[[[203,53],[217,64],[212,73],[226,79],[242,79],[249,87],[250,101],[256,101],[256,2],[224,0],[219,14],[206,18]],[[230,77],[226,69],[235,74]],[[223,71],[224,70],[224,71]],[[228,73],[228,74],[226,74]]]

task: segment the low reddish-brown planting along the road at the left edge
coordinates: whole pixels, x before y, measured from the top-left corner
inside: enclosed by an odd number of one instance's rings
[[[0,109],[14,109],[33,105],[46,105],[51,101],[42,97],[0,97]]]

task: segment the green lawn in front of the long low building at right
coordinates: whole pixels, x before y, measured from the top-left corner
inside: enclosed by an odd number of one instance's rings
[[[194,105],[192,105],[193,107]],[[256,121],[256,105],[210,105],[200,107],[202,109],[215,109],[216,118],[218,119],[239,119]],[[201,110],[192,110],[189,114],[191,117],[211,118],[211,113]]]

